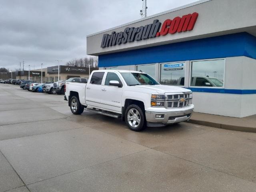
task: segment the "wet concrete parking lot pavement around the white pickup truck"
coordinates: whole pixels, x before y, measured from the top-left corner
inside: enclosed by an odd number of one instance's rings
[[[63,95],[0,84],[0,192],[254,192],[256,134],[180,123],[143,132],[73,115]]]

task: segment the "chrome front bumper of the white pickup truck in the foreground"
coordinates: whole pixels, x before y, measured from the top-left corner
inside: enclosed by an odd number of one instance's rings
[[[166,124],[173,124],[187,121],[190,119],[193,108],[178,112],[148,112],[146,111],[146,120],[148,127],[165,126]],[[156,115],[163,115],[163,118],[156,118]]]

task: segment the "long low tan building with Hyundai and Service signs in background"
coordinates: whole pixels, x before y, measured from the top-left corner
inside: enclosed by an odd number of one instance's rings
[[[98,68],[90,68],[90,72],[98,70]],[[42,71],[42,74],[41,74]],[[58,81],[58,66],[52,66],[48,68],[36,69],[28,71],[16,71],[13,72],[16,79],[33,80],[35,82],[41,82],[41,76],[43,82],[56,82]],[[72,77],[89,77],[89,68],[60,65],[60,80],[67,80]]]

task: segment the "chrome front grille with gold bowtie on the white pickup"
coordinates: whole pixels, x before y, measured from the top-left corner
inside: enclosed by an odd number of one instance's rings
[[[192,104],[192,93],[172,94],[166,96],[166,108],[181,108]]]

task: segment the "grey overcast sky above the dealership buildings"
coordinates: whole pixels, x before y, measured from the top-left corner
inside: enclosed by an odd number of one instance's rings
[[[147,0],[147,15],[197,0]],[[86,56],[86,35],[140,19],[142,0],[0,0],[0,68]]]

